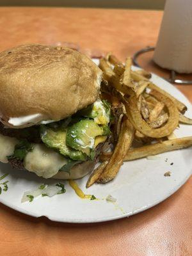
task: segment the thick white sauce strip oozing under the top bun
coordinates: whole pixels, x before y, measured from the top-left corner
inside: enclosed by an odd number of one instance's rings
[[[45,120],[41,121],[42,119],[42,114],[37,113],[33,115],[28,115],[28,116],[20,116],[20,117],[10,117],[8,120],[8,123],[12,124],[13,126],[20,126],[20,125],[25,125],[25,124],[50,124],[52,122],[55,122],[54,120]]]

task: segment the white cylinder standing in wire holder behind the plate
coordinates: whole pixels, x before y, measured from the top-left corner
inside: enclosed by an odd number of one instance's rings
[[[192,0],[167,0],[153,60],[163,68],[192,73]]]

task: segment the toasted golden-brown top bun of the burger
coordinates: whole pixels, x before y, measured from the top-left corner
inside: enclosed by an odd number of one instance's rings
[[[1,121],[13,127],[8,120],[14,117],[41,114],[38,122],[66,118],[97,100],[101,77],[90,58],[72,49],[30,44],[3,51]]]

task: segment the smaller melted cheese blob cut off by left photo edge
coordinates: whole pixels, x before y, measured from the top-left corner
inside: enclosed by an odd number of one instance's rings
[[[0,161],[3,163],[8,163],[7,156],[13,154],[15,145],[18,140],[8,136],[0,134]]]

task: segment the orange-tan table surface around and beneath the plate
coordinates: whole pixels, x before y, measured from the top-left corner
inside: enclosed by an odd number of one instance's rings
[[[86,51],[112,51],[124,60],[156,44],[162,15],[146,10],[3,7],[0,51],[25,43],[72,42]],[[150,57],[142,56],[141,62],[157,72]],[[178,87],[192,101],[192,86]],[[152,209],[92,225],[36,219],[1,204],[0,255],[192,255],[191,192],[190,179]]]

